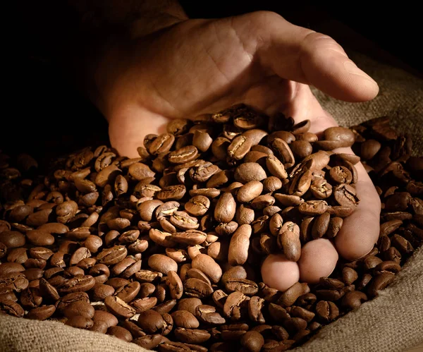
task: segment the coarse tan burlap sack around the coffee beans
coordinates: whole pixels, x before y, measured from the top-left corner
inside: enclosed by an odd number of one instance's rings
[[[394,126],[410,133],[416,154],[423,153],[422,80],[360,54],[350,55],[379,83],[372,102],[347,104],[315,92],[342,126],[376,116],[393,116]],[[403,351],[423,343],[423,248],[416,251],[396,280],[378,298],[364,303],[314,336],[298,352]],[[73,329],[57,322],[0,316],[0,351],[146,351],[111,336]]]

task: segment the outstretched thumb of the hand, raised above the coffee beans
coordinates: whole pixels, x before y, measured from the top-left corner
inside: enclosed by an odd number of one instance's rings
[[[327,35],[293,25],[271,12],[249,13],[233,23],[245,33],[241,37],[244,46],[252,47],[255,42],[259,62],[282,78],[314,85],[348,102],[364,102],[379,92],[376,82]]]

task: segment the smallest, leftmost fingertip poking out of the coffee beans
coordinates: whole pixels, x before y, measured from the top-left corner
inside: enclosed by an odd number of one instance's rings
[[[286,291],[300,279],[300,271],[296,262],[290,262],[285,255],[268,255],[262,265],[264,284]]]

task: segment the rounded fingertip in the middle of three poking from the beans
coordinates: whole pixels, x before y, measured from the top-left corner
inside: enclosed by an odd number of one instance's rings
[[[301,248],[298,260],[300,281],[317,284],[321,277],[329,277],[338,262],[338,252],[331,241],[319,238],[309,241]]]

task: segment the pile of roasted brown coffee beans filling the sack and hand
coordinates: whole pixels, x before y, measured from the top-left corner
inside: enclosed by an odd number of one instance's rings
[[[0,154],[0,312],[159,351],[285,351],[377,295],[423,241],[423,158],[388,119],[333,127],[245,105],[168,123],[140,157]],[[359,199],[360,157],[381,196],[380,238],[319,284],[262,282],[271,253],[334,238]]]

